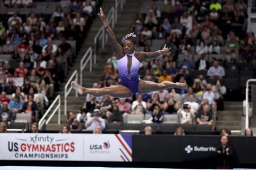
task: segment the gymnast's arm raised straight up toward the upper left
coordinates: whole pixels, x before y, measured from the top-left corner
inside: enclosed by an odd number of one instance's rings
[[[115,54],[117,55],[117,59],[120,59],[124,57],[124,50],[121,47],[120,44],[118,44],[117,39],[115,38],[113,30],[109,27],[108,22],[106,21],[105,14],[102,11],[102,8],[100,8],[98,16],[102,20],[103,27],[105,28],[106,34],[108,35],[108,38],[110,40],[112,49],[115,51]]]

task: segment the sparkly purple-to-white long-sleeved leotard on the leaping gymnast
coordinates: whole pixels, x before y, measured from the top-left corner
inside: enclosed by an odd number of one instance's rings
[[[123,47],[115,39],[112,29],[107,26],[105,27],[105,31],[111,42],[112,49],[117,56],[117,68],[121,85],[126,86],[133,94],[136,94],[138,92],[139,81],[141,80],[138,75],[139,65],[147,58],[159,57],[161,52],[133,52],[133,54],[125,54]]]

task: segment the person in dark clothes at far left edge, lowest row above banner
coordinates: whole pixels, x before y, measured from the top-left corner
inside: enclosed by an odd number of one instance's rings
[[[0,122],[10,123],[16,119],[15,113],[8,109],[8,103],[4,101],[0,109]]]

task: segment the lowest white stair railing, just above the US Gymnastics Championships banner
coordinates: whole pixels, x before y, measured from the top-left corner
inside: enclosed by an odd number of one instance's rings
[[[55,109],[53,110],[53,113],[51,113],[50,117],[46,120],[46,116],[48,115],[48,113],[51,111],[51,108],[53,108],[53,106],[57,103],[57,106],[55,107]],[[60,95],[57,95],[57,97],[55,98],[55,100],[53,101],[53,103],[51,103],[51,106],[47,109],[47,111],[44,113],[44,116],[42,116],[41,120],[39,120],[38,122],[38,129],[41,130],[42,126],[47,125],[51,118],[53,118],[54,114],[57,112],[58,110],[58,125],[60,125]]]

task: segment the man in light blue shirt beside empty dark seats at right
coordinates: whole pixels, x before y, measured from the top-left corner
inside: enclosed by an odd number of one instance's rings
[[[207,76],[210,78],[221,79],[225,76],[225,70],[223,66],[219,66],[218,61],[214,61],[214,66],[209,68]]]

